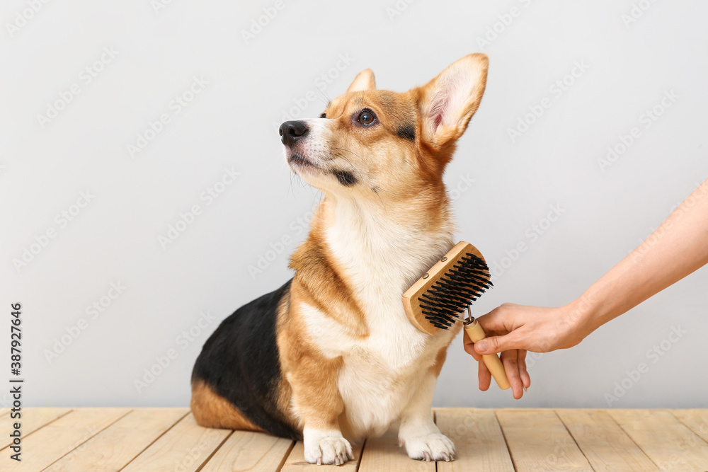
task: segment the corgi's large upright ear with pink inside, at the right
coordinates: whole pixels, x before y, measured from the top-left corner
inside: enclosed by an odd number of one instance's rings
[[[476,52],[450,64],[420,88],[422,137],[442,148],[462,136],[484,94],[489,58]]]

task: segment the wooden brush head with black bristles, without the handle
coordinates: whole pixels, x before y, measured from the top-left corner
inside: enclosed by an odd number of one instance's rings
[[[404,293],[413,326],[435,334],[450,328],[486,289],[492,287],[481,253],[460,241]]]

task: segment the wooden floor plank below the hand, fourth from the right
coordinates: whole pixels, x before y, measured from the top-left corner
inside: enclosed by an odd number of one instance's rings
[[[517,470],[592,472],[553,410],[496,410],[496,417]]]

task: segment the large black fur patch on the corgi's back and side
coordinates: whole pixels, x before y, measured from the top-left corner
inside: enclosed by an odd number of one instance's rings
[[[222,321],[204,343],[192,381],[204,381],[270,434],[302,439],[285,422],[275,398],[281,377],[275,321],[280,300],[290,296],[290,282]]]

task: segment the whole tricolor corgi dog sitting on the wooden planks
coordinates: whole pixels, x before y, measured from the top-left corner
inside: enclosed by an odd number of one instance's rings
[[[302,440],[312,464],[399,423],[412,459],[449,461],[435,382],[459,323],[428,335],[401,301],[454,246],[442,174],[479,108],[489,61],[457,60],[425,86],[377,90],[370,69],[317,119],[280,126],[290,169],[323,198],[282,287],[226,318],[192,374],[205,427]]]

